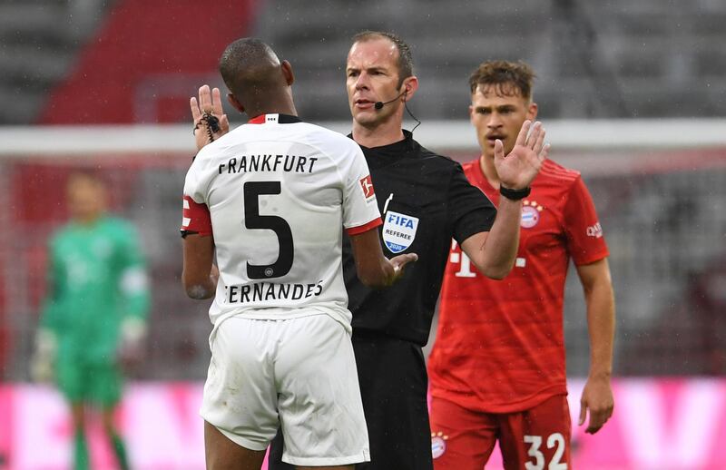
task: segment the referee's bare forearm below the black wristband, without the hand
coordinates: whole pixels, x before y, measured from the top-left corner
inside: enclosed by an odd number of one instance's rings
[[[496,219],[492,230],[480,246],[467,256],[488,278],[504,279],[515,265],[516,250],[519,246],[519,222],[522,217],[522,201],[500,198]],[[462,245],[462,248],[466,248]]]

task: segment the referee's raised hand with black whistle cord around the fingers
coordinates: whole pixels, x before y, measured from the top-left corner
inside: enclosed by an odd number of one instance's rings
[[[202,85],[199,89],[199,101],[192,96],[189,105],[198,151],[230,132],[230,122],[221,107],[219,88],[210,89],[209,85]]]

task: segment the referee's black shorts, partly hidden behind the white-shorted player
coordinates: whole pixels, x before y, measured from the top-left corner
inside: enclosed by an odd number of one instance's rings
[[[403,339],[354,330],[353,349],[371,459],[356,469],[432,469],[426,361],[421,348]],[[281,457],[278,433],[270,446],[270,470],[294,468]]]

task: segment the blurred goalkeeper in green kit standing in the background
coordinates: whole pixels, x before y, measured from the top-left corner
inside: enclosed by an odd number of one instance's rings
[[[88,469],[87,405],[99,408],[119,466],[129,467],[113,424],[122,396],[122,371],[142,358],[149,289],[138,235],[105,214],[103,182],[70,176],[72,219],[50,241],[48,296],[31,364],[35,380],[54,379],[71,406],[74,468]]]

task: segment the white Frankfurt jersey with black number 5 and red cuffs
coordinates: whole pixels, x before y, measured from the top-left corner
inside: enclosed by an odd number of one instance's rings
[[[286,114],[258,116],[204,147],[184,183],[182,231],[214,237],[215,326],[233,315],[326,313],[350,328],[342,229],[380,224],[358,144]]]

